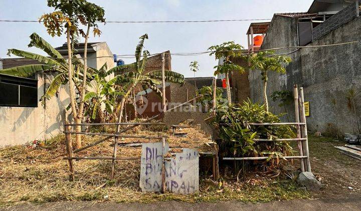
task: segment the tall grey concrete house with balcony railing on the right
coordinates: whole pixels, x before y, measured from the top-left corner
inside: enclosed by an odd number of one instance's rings
[[[260,46],[250,43],[248,51],[278,48],[276,54],[292,58],[287,74],[268,74],[267,94],[293,91],[294,84],[302,86],[305,101],[310,105],[309,130],[327,131],[338,127],[352,132],[357,128],[355,118],[358,117],[348,110],[345,94],[348,89],[361,86],[361,46],[354,42],[361,40],[358,5],[358,1],[315,0],[307,12],[274,14],[270,23],[261,23],[260,29],[253,23],[247,32],[249,40],[256,34],[264,38]],[[327,46],[332,44],[342,45]],[[301,48],[294,48],[296,46]],[[241,78],[248,80],[249,86],[243,88],[248,89],[251,99],[262,102],[260,72],[250,71]],[[333,99],[336,99],[335,105],[331,103]],[[360,102],[356,98],[356,111],[361,109]],[[279,102],[269,99],[269,104],[271,112],[284,113],[278,107]],[[287,109],[292,115],[293,105]]]

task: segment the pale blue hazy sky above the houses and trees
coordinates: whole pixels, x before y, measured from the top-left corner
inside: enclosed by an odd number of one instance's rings
[[[172,21],[218,19],[264,19],[274,13],[305,12],[312,0],[92,0],[105,10],[108,21]],[[260,3],[261,2],[261,3]],[[38,20],[44,13],[52,12],[46,0],[0,0],[0,20]],[[251,21],[223,23],[161,23],[161,24],[113,24],[100,25],[102,35],[91,37],[90,42],[105,41],[114,54],[133,54],[138,38],[147,33],[145,48],[151,54],[170,50],[179,52],[206,51],[211,45],[236,41],[247,46],[246,31]],[[8,58],[8,48],[29,49],[29,36],[36,32],[53,46],[60,46],[65,36],[52,38],[39,23],[0,22],[0,57]],[[134,59],[123,59],[126,63]],[[196,76],[213,75],[214,57],[172,56],[172,70],[193,77],[189,69],[191,61],[200,63]]]

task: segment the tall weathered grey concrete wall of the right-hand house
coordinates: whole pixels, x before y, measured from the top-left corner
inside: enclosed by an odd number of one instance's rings
[[[262,49],[297,46],[296,20],[277,17],[273,20],[266,35]],[[309,44],[326,45],[360,40],[361,19],[357,18],[341,28],[338,28]],[[294,49],[284,49],[277,53],[291,52]],[[287,67],[287,74],[270,73],[267,94],[273,91],[293,90],[293,84],[304,87],[305,101],[310,101],[310,117],[307,117],[308,129],[325,131],[328,124],[337,122],[344,132],[352,132],[350,113],[345,102],[345,92],[349,88],[359,90],[361,86],[361,62],[359,44],[349,44],[324,48],[302,48],[290,54],[292,63]],[[259,71],[250,73],[250,92],[254,101],[262,102],[262,80]],[[337,99],[336,114],[333,112],[331,99]],[[268,97],[270,111],[283,112],[278,107],[279,102],[273,102]],[[360,97],[356,99],[356,109],[361,109]],[[293,104],[288,107],[291,121]]]

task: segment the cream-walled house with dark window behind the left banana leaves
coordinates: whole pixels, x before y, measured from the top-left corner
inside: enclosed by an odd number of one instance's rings
[[[84,44],[79,46],[77,50],[81,54]],[[67,55],[64,45],[56,49]],[[89,62],[90,67],[99,68],[105,62],[108,68],[114,66],[113,54],[106,43],[91,43],[88,51],[88,57],[94,57]],[[0,59],[3,69],[37,63],[24,58]],[[29,78],[0,74],[0,146],[46,140],[62,131],[64,110],[70,102],[67,86],[62,86],[56,96],[46,100],[44,105],[39,101],[54,77],[54,74],[44,73]]]

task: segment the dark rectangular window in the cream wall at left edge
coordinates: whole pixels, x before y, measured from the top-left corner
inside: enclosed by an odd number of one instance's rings
[[[38,80],[0,74],[0,106],[38,107]]]

